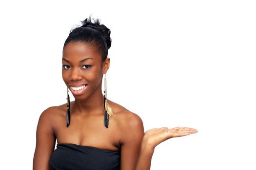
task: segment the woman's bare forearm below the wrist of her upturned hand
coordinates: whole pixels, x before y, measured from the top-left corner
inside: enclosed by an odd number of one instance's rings
[[[136,170],[150,170],[154,148],[141,144]]]

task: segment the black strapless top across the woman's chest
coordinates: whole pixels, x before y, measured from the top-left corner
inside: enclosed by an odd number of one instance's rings
[[[120,150],[110,151],[72,143],[57,144],[50,170],[120,170]]]

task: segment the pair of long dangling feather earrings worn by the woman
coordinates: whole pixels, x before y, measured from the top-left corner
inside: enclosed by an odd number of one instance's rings
[[[106,108],[106,110],[105,110]],[[103,113],[104,113],[104,125],[106,128],[108,128],[108,122],[109,122],[109,117],[108,116],[112,116],[113,112],[112,112],[112,108],[110,107],[110,105],[108,104],[108,99],[107,99],[107,78],[106,78],[106,74],[104,76],[104,109],[103,109]],[[68,95],[68,87],[67,87],[67,116],[66,116],[66,122],[67,122],[67,127],[70,124],[70,101],[69,101],[69,95]]]

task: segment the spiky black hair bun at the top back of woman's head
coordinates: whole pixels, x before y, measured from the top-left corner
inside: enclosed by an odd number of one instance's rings
[[[108,29],[105,25],[100,24],[100,19],[93,19],[94,22],[91,20],[91,15],[89,18],[84,19],[81,21],[82,26],[84,28],[93,28],[94,30],[100,32],[103,37],[106,39],[107,48],[110,49],[111,47],[111,38],[110,38],[110,29]]]

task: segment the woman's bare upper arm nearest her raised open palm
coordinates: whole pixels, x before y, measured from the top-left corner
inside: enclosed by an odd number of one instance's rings
[[[135,170],[140,145],[144,136],[143,122],[137,114],[129,113],[123,119],[121,139],[121,170]]]

